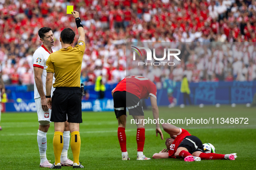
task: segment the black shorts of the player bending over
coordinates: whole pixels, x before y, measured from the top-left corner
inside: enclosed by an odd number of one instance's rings
[[[144,116],[142,103],[136,95],[126,91],[115,91],[113,100],[116,117],[126,115],[126,107],[130,115]]]

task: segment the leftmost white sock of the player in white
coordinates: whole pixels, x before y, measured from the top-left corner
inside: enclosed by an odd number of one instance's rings
[[[46,134],[47,134],[46,132],[43,132],[41,130],[37,131],[37,143],[38,143],[41,163],[47,161],[47,158],[46,158],[46,149],[47,149]]]

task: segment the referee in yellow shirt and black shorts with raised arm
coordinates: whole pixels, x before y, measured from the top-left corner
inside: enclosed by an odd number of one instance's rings
[[[62,49],[50,54],[46,61],[46,98],[47,106],[52,109],[51,121],[54,122],[53,150],[55,163],[50,169],[61,168],[61,153],[63,148],[63,132],[65,121],[69,122],[71,132],[71,150],[74,157],[73,168],[84,168],[79,163],[81,139],[79,123],[82,123],[82,93],[80,90],[80,74],[82,59],[85,50],[84,28],[77,11],[71,12],[78,28],[78,44],[73,48],[75,32],[65,28],[61,32],[60,42]],[[52,79],[55,76],[51,96]]]

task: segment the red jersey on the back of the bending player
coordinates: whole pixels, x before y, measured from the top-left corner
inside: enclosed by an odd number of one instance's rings
[[[115,91],[127,91],[136,95],[139,99],[148,98],[149,95],[156,98],[156,85],[143,76],[128,76],[117,84]]]

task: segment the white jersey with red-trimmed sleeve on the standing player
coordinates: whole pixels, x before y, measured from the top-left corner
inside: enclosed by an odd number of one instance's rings
[[[55,52],[55,50],[52,50],[52,52]],[[48,59],[50,53],[49,51],[45,48],[44,45],[42,45],[41,47],[39,47],[38,49],[36,49],[35,53],[33,54],[33,58],[32,58],[32,63],[34,67],[39,67],[41,69],[43,69],[42,72],[42,84],[43,84],[43,89],[44,92],[46,94],[46,89],[45,89],[45,83],[46,83],[46,60]],[[34,72],[34,77],[35,77],[35,72]],[[52,84],[55,82],[55,77],[53,76],[52,79]],[[52,91],[51,91],[51,96],[52,96],[52,92],[55,90],[55,88],[52,87]],[[39,92],[37,91],[36,88],[36,82],[34,79],[34,99],[36,98],[40,98]]]

